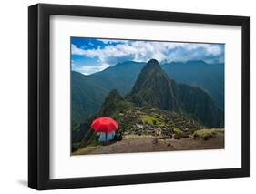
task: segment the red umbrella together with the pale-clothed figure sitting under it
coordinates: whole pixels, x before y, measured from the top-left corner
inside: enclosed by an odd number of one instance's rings
[[[115,138],[118,123],[111,117],[98,117],[92,122],[91,128],[97,131],[98,141],[107,143]]]

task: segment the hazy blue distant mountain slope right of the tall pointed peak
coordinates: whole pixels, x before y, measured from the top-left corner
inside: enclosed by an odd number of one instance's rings
[[[224,64],[207,64],[204,61],[171,62],[163,64],[162,68],[177,82],[204,89],[219,107],[224,107]]]

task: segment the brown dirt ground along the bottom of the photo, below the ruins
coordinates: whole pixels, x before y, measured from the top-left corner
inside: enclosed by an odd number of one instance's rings
[[[224,148],[224,135],[218,133],[216,137],[208,140],[202,138],[181,138],[159,140],[154,143],[153,138],[123,139],[108,146],[97,146],[95,148],[81,148],[74,155],[82,154],[110,154],[110,153],[135,153],[152,151],[174,151],[195,149],[221,149]]]

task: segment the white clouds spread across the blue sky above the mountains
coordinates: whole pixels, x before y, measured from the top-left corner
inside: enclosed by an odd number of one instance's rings
[[[159,62],[205,60],[223,62],[223,46],[217,44],[176,43],[157,41],[129,41],[97,39],[108,44],[95,49],[82,49],[72,45],[72,55],[97,58],[99,66],[83,66],[84,72],[104,69],[118,62],[134,60],[146,62],[151,58]],[[111,44],[115,43],[115,44]]]

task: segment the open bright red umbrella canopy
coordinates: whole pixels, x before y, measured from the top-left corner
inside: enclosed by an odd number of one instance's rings
[[[92,122],[91,128],[97,132],[109,133],[118,129],[118,123],[111,117],[98,117]]]

